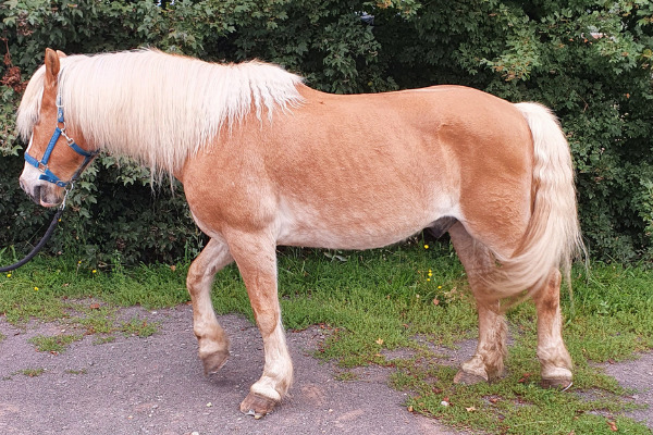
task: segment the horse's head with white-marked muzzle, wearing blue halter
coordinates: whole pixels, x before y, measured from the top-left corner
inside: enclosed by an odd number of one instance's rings
[[[45,65],[29,80],[17,116],[23,139],[29,139],[21,187],[44,207],[60,204],[65,189],[95,157],[86,150],[82,132],[64,117],[59,89],[63,58],[61,51],[46,49]]]

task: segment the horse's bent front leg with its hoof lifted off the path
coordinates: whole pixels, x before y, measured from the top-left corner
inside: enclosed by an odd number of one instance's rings
[[[212,238],[188,270],[186,286],[193,302],[193,332],[199,344],[205,373],[217,372],[229,358],[229,339],[211,303],[215,273],[233,261],[226,245]]]

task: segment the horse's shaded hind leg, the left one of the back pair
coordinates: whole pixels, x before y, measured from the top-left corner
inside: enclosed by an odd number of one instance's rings
[[[477,301],[479,315],[479,343],[473,357],[460,365],[455,383],[475,384],[503,376],[504,359],[507,353],[507,325],[500,311],[498,301],[489,297],[484,274],[494,266],[485,247],[475,243],[460,223],[449,228],[452,243],[456,248]]]

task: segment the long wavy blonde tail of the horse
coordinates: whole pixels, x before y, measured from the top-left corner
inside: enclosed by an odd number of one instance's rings
[[[515,252],[508,258],[496,256],[497,274],[491,284],[502,296],[523,290],[530,296],[546,284],[552,270],[559,268],[570,290],[571,261],[584,252],[584,247],[569,145],[547,108],[532,102],[515,105],[526,119],[533,139],[532,213]]]

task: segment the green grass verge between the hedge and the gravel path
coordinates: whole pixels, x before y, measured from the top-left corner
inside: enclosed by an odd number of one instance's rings
[[[477,319],[465,272],[447,245],[426,249],[412,240],[366,252],[284,249],[279,259],[286,327],[321,324],[331,330],[317,355],[338,361],[342,381],[355,378],[347,368],[393,366],[394,387],[410,391],[409,410],[489,433],[601,434],[614,427],[651,433],[623,417],[631,407],[626,391],[594,364],[653,348],[653,272],[644,268],[594,263],[589,276],[575,270],[574,295],[563,294],[575,387],[559,393],[538,385],[532,303],[508,314],[514,341],[508,376],[492,385],[453,384],[456,369],[443,364],[433,349],[476,337]],[[112,312],[133,304],[155,309],[186,302],[186,271],[187,264],[176,264],[108,273],[73,259],[41,259],[0,276],[0,313],[12,323],[74,321],[106,338],[116,331],[147,335],[151,325],[136,319],[116,325]],[[101,307],[83,312],[71,306],[85,298],[101,301]],[[219,313],[251,319],[235,266],[218,275],[213,302]],[[393,349],[409,351],[391,359]]]

